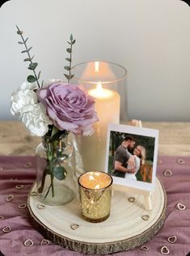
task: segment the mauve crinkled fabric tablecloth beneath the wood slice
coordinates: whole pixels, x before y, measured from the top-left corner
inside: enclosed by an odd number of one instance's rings
[[[52,242],[40,245],[45,237],[32,227],[27,207],[24,208],[23,205],[27,203],[28,191],[36,178],[35,167],[33,156],[0,156],[0,251],[7,256],[82,255]],[[171,176],[163,174],[166,169],[171,170]],[[146,242],[149,250],[141,250],[139,247],[114,255],[157,256],[162,255],[160,251],[164,245],[170,250],[168,255],[184,256],[190,251],[190,157],[159,157],[157,176],[163,181],[167,191],[167,220],[163,228]],[[7,201],[11,198],[7,198],[8,195],[13,195],[14,198]],[[178,203],[184,204],[186,208],[180,211],[176,207]],[[11,227],[10,232],[3,232],[2,229],[6,226]],[[167,238],[174,235],[177,240],[171,244]],[[33,241],[32,246],[24,245],[27,239]]]

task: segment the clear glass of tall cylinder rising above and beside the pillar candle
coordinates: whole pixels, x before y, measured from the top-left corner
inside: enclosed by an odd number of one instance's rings
[[[126,77],[127,70],[124,66],[114,62],[106,61],[90,61],[81,62],[72,68],[74,83],[82,84],[87,90],[93,90],[95,96],[106,98],[106,93],[103,92],[118,92],[120,95],[120,119],[127,119],[127,90],[126,90]],[[107,90],[100,90],[107,89]],[[91,92],[93,94],[93,92]]]

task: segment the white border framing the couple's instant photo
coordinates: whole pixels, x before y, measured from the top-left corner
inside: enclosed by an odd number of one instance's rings
[[[153,161],[153,172],[152,172],[152,182],[145,181],[135,181],[135,180],[127,180],[123,177],[114,177],[113,183],[121,186],[133,187],[141,190],[154,190],[155,186],[155,177],[156,177],[156,168],[158,162],[158,130],[137,127],[137,126],[126,126],[119,124],[108,124],[108,133],[107,133],[107,147],[106,147],[106,157],[105,157],[105,172],[108,173],[108,160],[109,160],[109,145],[110,145],[110,133],[111,131],[122,132],[126,134],[134,134],[134,135],[142,135],[147,137],[154,137],[154,161]]]

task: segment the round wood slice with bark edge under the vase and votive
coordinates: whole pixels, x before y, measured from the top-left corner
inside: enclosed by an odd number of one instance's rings
[[[82,219],[78,196],[63,206],[49,206],[33,195],[35,191],[36,183],[27,199],[34,226],[53,243],[84,254],[112,254],[133,249],[154,237],[165,220],[166,193],[158,178],[151,211],[145,210],[141,195],[113,190],[111,215],[101,223]],[[134,197],[135,202],[129,202],[130,197]],[[39,205],[44,207],[39,209]],[[150,217],[143,220],[143,215]]]

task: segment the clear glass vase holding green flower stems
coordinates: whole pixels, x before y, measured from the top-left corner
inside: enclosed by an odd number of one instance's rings
[[[36,147],[36,181],[41,202],[61,205],[74,198],[77,181],[73,152],[66,131],[53,141],[43,137]]]

